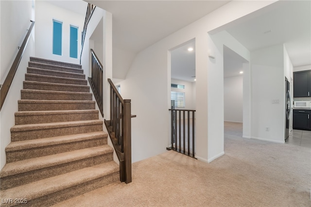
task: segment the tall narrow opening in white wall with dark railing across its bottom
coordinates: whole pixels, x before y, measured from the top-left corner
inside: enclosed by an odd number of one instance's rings
[[[195,39],[172,50],[169,150],[195,155]]]

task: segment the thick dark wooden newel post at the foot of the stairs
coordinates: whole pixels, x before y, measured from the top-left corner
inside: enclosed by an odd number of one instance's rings
[[[124,167],[125,167],[125,183],[132,182],[132,140],[131,140],[131,100],[125,99],[123,105],[124,119]]]

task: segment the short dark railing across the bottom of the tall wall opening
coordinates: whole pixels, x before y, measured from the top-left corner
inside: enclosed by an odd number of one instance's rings
[[[195,155],[195,110],[169,109],[171,111],[171,147],[184,155]]]

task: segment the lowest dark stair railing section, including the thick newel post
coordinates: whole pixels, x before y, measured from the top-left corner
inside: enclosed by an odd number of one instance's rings
[[[120,181],[132,182],[131,100],[123,100],[112,81],[110,84],[110,120],[104,121],[120,161]]]

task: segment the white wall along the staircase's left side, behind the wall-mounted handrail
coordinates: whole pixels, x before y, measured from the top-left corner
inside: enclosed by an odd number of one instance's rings
[[[0,80],[4,79],[17,55],[17,47],[24,40],[30,27],[32,17],[31,1],[0,1],[1,28],[1,63]],[[14,126],[14,113],[17,112],[17,100],[23,88],[29,57],[35,53],[33,34],[30,36],[26,50],[19,63],[17,73],[0,112],[0,168],[5,164],[5,147],[11,142],[10,128]]]

